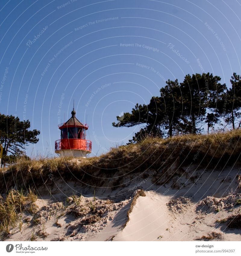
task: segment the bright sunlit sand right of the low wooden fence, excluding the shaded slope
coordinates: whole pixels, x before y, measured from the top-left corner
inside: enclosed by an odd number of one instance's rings
[[[221,234],[219,240],[240,241],[240,230],[222,228],[217,219],[227,218],[240,212],[196,213],[197,204],[189,204],[180,213],[173,213],[167,207],[166,196],[148,191],[146,197],[139,197],[130,214],[127,226],[119,232],[114,241],[193,241],[211,232]]]

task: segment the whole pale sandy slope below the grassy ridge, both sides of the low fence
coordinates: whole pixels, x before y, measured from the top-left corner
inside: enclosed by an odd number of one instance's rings
[[[187,178],[194,171],[196,178]],[[241,206],[233,203],[241,198],[237,174],[239,168],[220,172],[196,170],[192,166],[185,175],[166,185],[153,184],[149,179],[138,187],[146,191],[146,196],[137,198],[125,227],[133,196],[129,188],[142,181],[142,177],[119,190],[100,189],[96,200],[88,195],[76,197],[78,202],[70,197],[70,187],[83,192],[83,185],[59,182],[51,197],[39,188],[42,199],[36,202],[36,213],[25,211],[21,217],[22,229],[16,226],[5,240],[193,241],[216,232],[219,235],[215,239],[240,241],[240,229],[228,229],[227,223],[216,222],[241,213]]]

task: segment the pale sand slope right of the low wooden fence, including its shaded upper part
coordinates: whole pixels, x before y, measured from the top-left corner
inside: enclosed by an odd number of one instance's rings
[[[166,188],[167,194],[163,187],[157,188],[157,191],[162,193],[146,191],[146,197],[137,199],[136,206],[130,214],[130,221],[114,240],[193,241],[216,232],[220,234],[218,240],[240,241],[240,229],[228,229],[227,223],[217,222],[241,213],[241,206],[234,205],[235,200],[229,199],[232,195],[235,199],[241,198],[236,183],[236,175],[239,172],[239,169],[228,168],[222,172],[199,170],[196,182],[183,177],[176,181],[186,182],[186,186],[181,189],[168,191]],[[200,205],[210,195],[224,200],[220,199],[216,206]],[[176,202],[177,198],[180,200]],[[168,205],[171,199],[173,202]],[[223,208],[222,202],[226,201],[227,204]],[[211,210],[212,207],[220,210]]]

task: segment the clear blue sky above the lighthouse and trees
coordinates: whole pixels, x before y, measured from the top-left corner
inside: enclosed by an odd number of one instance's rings
[[[1,0],[0,112],[40,130],[27,154],[54,154],[73,108],[92,154],[139,127],[112,122],[160,95],[165,80],[240,71],[241,1]],[[197,61],[199,59],[199,62]],[[202,65],[202,66],[201,66]]]

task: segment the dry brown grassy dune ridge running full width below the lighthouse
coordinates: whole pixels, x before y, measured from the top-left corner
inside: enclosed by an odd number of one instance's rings
[[[167,139],[149,137],[137,144],[111,148],[99,157],[19,159],[1,171],[0,193],[10,188],[53,184],[56,179],[93,187],[117,187],[121,177],[126,175],[131,179],[131,176],[144,174],[147,169],[161,175],[171,174],[170,167],[178,174],[177,170],[191,163],[221,170],[226,165],[240,162],[240,136],[241,129]],[[108,183],[110,180],[111,184]]]

